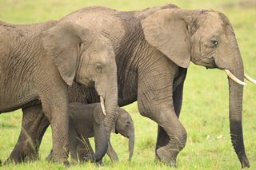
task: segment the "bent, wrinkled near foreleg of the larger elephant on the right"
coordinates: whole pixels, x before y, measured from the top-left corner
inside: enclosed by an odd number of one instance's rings
[[[161,127],[158,130],[160,144],[157,156],[166,164],[176,166],[178,152],[186,144],[186,129],[174,109],[173,83],[178,67],[166,57],[154,59],[149,70],[144,69],[139,75],[138,109],[142,116],[149,117]]]

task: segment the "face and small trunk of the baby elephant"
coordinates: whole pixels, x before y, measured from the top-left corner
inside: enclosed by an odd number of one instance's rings
[[[134,121],[130,114],[122,108],[118,108],[118,117],[115,122],[115,132],[129,138],[129,161],[134,154]]]

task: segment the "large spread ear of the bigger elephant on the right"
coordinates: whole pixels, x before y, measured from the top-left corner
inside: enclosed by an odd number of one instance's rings
[[[190,65],[190,41],[186,22],[179,9],[158,10],[142,21],[146,41],[175,64]]]

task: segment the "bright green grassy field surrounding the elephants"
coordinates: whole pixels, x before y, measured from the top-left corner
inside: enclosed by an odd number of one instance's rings
[[[0,20],[13,23],[42,22],[58,19],[83,6],[101,5],[117,10],[139,10],[150,6],[174,3],[187,9],[220,10],[230,18],[242,53],[246,73],[256,77],[256,2],[238,0],[0,0]],[[249,83],[244,89],[243,129],[246,152],[252,169],[256,169],[256,86]],[[132,116],[135,125],[134,157],[128,158],[128,140],[113,134],[112,144],[118,153],[119,163],[111,164],[108,157],[99,169],[169,169],[163,164],[154,164],[154,145],[157,126],[153,121],[140,116],[137,103],[124,107]],[[21,111],[2,114],[0,117],[0,159],[10,155],[18,139],[21,126]],[[228,121],[228,84],[226,74],[218,69],[206,70],[190,65],[185,89],[182,125],[187,130],[186,148],[178,155],[178,169],[240,169],[240,163],[232,148]],[[40,148],[41,159],[2,167],[3,169],[62,169],[60,164],[50,164],[45,157],[50,152],[50,128]],[[70,169],[94,169],[94,164],[72,166]]]

